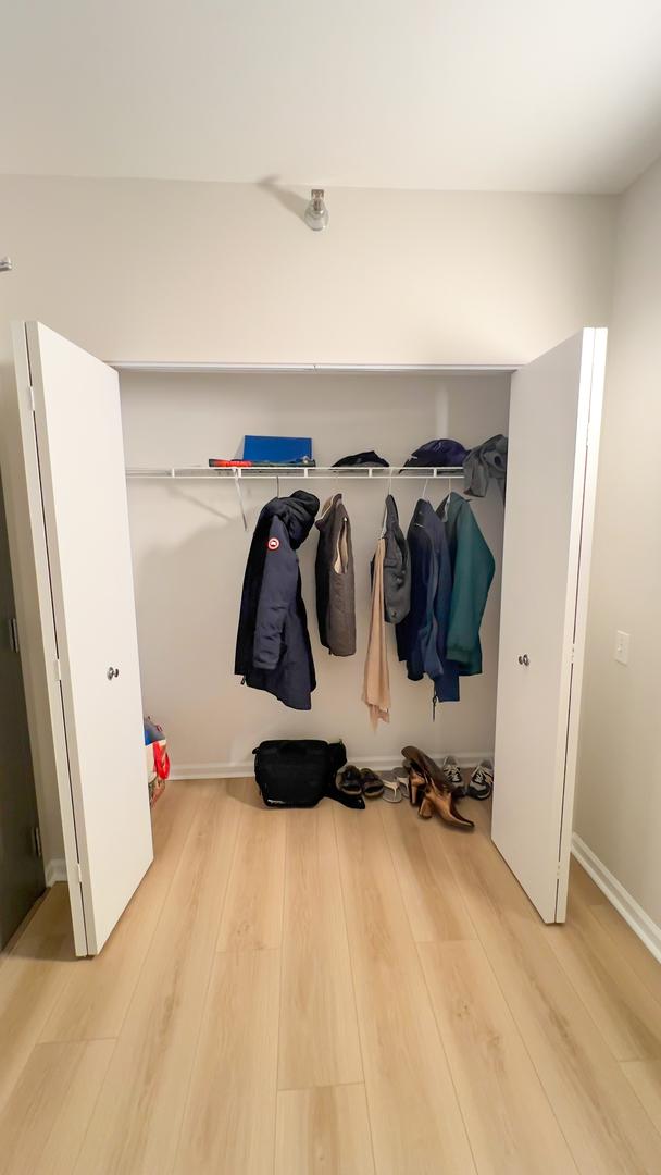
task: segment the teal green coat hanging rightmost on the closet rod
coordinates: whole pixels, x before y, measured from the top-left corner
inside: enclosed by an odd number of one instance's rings
[[[451,494],[438,510],[452,559],[452,599],[446,657],[459,665],[463,677],[483,671],[480,624],[495,564],[470,503]]]

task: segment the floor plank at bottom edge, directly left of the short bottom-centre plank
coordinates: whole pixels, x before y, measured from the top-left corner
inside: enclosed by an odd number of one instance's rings
[[[279,951],[216,954],[174,1170],[271,1175]]]

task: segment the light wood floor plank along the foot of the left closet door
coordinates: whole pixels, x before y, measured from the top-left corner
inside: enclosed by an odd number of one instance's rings
[[[222,787],[222,784],[217,785]],[[198,803],[200,785],[168,787],[154,808],[154,861],[103,951],[69,971],[43,1032],[48,1040],[117,1036]]]

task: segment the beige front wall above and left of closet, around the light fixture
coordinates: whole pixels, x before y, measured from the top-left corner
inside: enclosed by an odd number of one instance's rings
[[[0,275],[0,367],[21,317],[110,358],[378,363],[525,361],[607,321],[615,197],[345,189],[329,204],[329,231],[313,234],[302,196],[268,188],[0,177],[0,254],[15,267]],[[7,398],[0,425],[29,657],[39,633]],[[27,670],[56,857],[35,657]]]

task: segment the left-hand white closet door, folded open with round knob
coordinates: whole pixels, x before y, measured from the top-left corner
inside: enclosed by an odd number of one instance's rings
[[[76,951],[96,954],[153,860],[119,378],[40,323],[25,337],[75,826],[67,872],[82,892]]]

